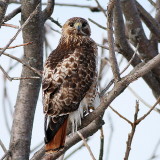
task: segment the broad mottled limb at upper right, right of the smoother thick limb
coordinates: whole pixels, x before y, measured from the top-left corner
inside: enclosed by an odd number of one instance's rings
[[[155,50],[151,42],[147,39],[144,29],[142,27],[142,22],[136,8],[136,3],[134,0],[122,1],[122,8],[126,18],[126,25],[128,28],[129,39],[136,46],[139,43],[139,54],[144,61],[152,59],[158,54],[158,51]],[[128,8],[130,8],[128,10]],[[134,17],[134,18],[133,18]],[[132,23],[130,23],[132,21]],[[147,47],[146,47],[147,46]],[[155,78],[160,81],[160,67],[157,66],[152,71],[155,75]]]

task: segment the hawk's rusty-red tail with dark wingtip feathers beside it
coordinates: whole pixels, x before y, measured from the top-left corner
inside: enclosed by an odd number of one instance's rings
[[[59,151],[64,147],[66,139],[67,121],[68,115],[60,116],[56,119],[50,118],[48,128],[45,129],[46,152]]]

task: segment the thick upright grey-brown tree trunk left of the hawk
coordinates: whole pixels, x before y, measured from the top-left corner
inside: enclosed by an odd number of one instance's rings
[[[41,3],[40,0],[22,0],[22,23],[25,22],[39,3]],[[23,29],[24,43],[33,41],[31,45],[24,46],[24,60],[32,67],[42,70],[43,25],[41,5],[39,5],[37,10],[37,14]],[[37,75],[27,67],[23,66],[21,76],[32,77]],[[29,159],[33,119],[40,85],[41,79],[27,79],[20,81],[9,148],[11,151],[10,158],[12,160]]]

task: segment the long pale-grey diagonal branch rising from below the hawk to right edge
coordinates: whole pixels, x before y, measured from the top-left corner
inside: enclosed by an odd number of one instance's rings
[[[144,74],[146,74],[150,69],[152,69],[153,67],[155,67],[156,65],[158,65],[160,63],[160,54],[157,55],[156,57],[154,57],[152,60],[150,60],[149,62],[147,62],[146,64],[142,63],[141,66],[139,66],[139,68],[134,69],[129,75],[127,75],[126,77],[124,77],[123,79],[121,79],[119,82],[117,82],[115,84],[115,86],[113,87],[113,89],[107,94],[104,95],[104,97],[102,98],[102,102],[100,104],[99,107],[97,107],[93,112],[91,112],[89,115],[87,115],[86,117],[84,117],[83,121],[82,121],[82,128],[86,127],[88,124],[92,124],[92,121],[94,121],[97,117],[101,117],[105,110],[108,108],[109,104],[122,92],[124,91],[124,89],[133,81],[137,80],[139,77],[143,76]],[[91,125],[90,124],[90,125]],[[89,125],[89,126],[90,126]],[[88,127],[89,127],[88,126]],[[91,129],[86,130],[86,132],[91,131]],[[85,130],[86,128],[83,128],[82,130]],[[84,133],[86,133],[84,132]],[[82,133],[84,135],[84,133]],[[87,133],[86,133],[87,134]],[[93,134],[93,133],[92,133]],[[85,137],[85,136],[84,136]],[[73,137],[72,137],[73,140]],[[73,140],[74,141],[74,140]],[[76,141],[77,142],[77,141]],[[76,143],[74,141],[73,144]],[[70,147],[73,145],[70,144]],[[66,150],[68,149],[68,144],[66,142],[66,147],[64,147],[63,151],[59,151],[58,153],[56,153],[54,156],[50,156],[50,157],[54,157],[55,159],[58,158],[60,155],[62,155]],[[44,152],[44,150],[40,150],[40,152],[38,152],[38,155],[42,155],[42,152]],[[38,156],[38,155],[35,155]],[[38,156],[39,157],[39,156]],[[40,157],[39,157],[40,158]],[[53,158],[53,159],[54,159]],[[34,157],[32,158],[32,160],[36,160]]]

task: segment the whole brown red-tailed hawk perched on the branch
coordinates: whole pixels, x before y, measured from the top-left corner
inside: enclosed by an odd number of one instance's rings
[[[75,130],[95,98],[97,46],[90,34],[85,19],[69,19],[57,48],[46,60],[42,83],[44,113],[49,117],[46,151],[64,146],[68,119]]]

